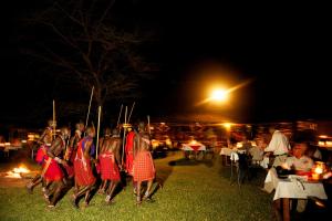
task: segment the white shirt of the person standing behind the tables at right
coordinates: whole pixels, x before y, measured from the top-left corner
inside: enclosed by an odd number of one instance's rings
[[[290,144],[287,136],[280,130],[274,130],[270,144],[267,146],[264,151],[272,151],[273,155],[288,154],[290,149]]]

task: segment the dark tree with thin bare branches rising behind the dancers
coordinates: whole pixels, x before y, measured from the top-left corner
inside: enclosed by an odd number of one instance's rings
[[[115,12],[112,0],[49,1],[25,20],[33,38],[24,36],[31,44],[22,51],[45,62],[59,84],[86,94],[94,86],[97,105],[139,97],[139,83],[155,69],[138,52],[152,38]]]

